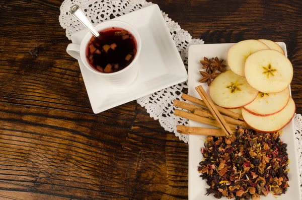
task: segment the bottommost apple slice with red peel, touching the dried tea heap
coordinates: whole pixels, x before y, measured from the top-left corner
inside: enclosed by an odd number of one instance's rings
[[[277,132],[284,128],[293,118],[295,104],[290,97],[287,105],[280,112],[269,116],[257,116],[242,109],[242,116],[246,124],[259,132]]]

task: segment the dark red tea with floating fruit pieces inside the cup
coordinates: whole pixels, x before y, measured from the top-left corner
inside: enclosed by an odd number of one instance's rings
[[[92,37],[86,57],[90,65],[102,73],[114,73],[126,68],[137,51],[136,40],[127,30],[112,27]]]

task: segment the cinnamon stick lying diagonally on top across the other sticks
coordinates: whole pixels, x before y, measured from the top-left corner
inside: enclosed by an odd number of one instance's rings
[[[215,107],[214,103],[210,99],[210,97],[206,94],[202,86],[198,86],[195,88],[200,97],[203,99],[203,102],[206,104],[208,109],[211,111],[212,115],[218,122],[220,128],[224,131],[226,137],[230,137],[233,132],[228,124],[226,124],[225,120],[221,116],[220,112]]]

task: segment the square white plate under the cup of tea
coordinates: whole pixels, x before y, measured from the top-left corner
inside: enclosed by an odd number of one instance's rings
[[[158,5],[117,17],[131,24],[141,37],[139,70],[135,81],[124,88],[114,88],[89,71],[79,60],[80,69],[94,113],[133,101],[148,94],[185,82],[188,75]],[[88,30],[71,35],[80,44]]]

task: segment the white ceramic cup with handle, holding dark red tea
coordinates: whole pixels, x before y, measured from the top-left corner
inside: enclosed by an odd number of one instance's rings
[[[69,55],[71,55],[72,57],[74,57],[76,59],[79,58],[79,53],[80,53],[80,59],[84,63],[86,68],[88,70],[90,70],[91,72],[98,74],[100,76],[100,79],[106,80],[107,82],[111,83],[113,86],[124,87],[126,85],[131,84],[137,76],[137,72],[138,72],[138,68],[139,68],[138,57],[139,57],[140,50],[141,50],[141,39],[140,39],[138,32],[136,31],[136,29],[133,26],[131,26],[130,24],[127,24],[125,22],[121,22],[121,21],[110,20],[110,21],[102,22],[101,24],[97,25],[95,27],[95,29],[98,32],[100,32],[102,30],[106,30],[106,29],[112,28],[112,27],[121,28],[121,29],[125,29],[125,30],[129,31],[129,33],[131,33],[136,40],[136,45],[137,45],[136,50],[137,51],[136,51],[135,57],[132,60],[132,62],[128,66],[126,66],[126,68],[124,68],[123,70],[107,74],[107,73],[102,73],[102,72],[97,71],[90,65],[90,63],[88,62],[88,59],[86,57],[87,48],[89,48],[88,43],[89,43],[91,37],[93,36],[92,33],[90,33],[90,32],[85,35],[81,44],[71,43],[67,46],[66,51]]]

